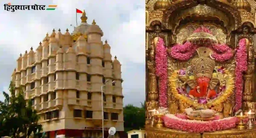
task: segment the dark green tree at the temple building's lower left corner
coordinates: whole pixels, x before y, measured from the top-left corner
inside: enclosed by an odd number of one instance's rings
[[[26,102],[22,89],[15,96],[12,82],[9,91],[11,96],[3,92],[5,100],[0,101],[0,137],[19,138],[22,135],[28,138],[32,133],[40,132],[42,125],[37,123],[39,115],[32,109],[32,101]]]

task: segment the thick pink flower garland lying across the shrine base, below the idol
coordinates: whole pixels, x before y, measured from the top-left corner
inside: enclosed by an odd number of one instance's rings
[[[211,131],[220,131],[234,128],[237,118],[228,117],[213,121],[195,121],[176,117],[173,114],[162,117],[166,127],[186,132],[203,133]]]

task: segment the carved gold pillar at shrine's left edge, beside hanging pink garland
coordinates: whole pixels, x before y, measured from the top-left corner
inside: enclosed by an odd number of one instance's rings
[[[158,109],[158,90],[157,90],[157,78],[155,74],[154,62],[148,61],[148,81],[147,81],[147,99],[150,103],[151,109]]]

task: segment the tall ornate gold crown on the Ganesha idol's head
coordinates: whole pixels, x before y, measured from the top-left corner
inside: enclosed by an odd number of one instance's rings
[[[215,67],[215,61],[209,57],[199,57],[191,60],[191,69],[193,75],[198,77],[212,77],[212,73]]]

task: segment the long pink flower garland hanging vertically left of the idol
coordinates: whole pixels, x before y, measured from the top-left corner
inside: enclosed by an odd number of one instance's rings
[[[159,77],[159,103],[167,107],[167,52],[162,38],[158,38],[156,46],[156,75]]]

